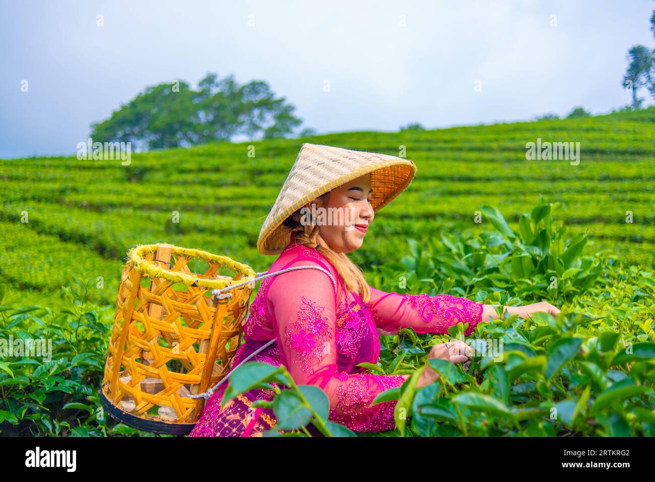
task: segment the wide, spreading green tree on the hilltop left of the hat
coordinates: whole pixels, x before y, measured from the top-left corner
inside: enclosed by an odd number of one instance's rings
[[[147,87],[109,119],[93,123],[91,136],[148,149],[229,141],[239,134],[276,138],[301,124],[294,110],[285,98],[275,98],[263,81],[238,85],[231,75],[219,80],[208,73],[198,90],[184,81]]]

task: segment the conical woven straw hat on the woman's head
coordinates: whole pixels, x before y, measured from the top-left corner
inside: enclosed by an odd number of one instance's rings
[[[257,249],[262,254],[282,252],[291,233],[284,220],[327,191],[370,172],[377,212],[407,188],[416,171],[413,161],[402,157],[306,142],[259,232]]]

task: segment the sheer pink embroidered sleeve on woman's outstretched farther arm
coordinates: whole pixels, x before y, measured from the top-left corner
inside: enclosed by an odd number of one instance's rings
[[[482,319],[483,305],[449,294],[387,293],[369,287],[369,308],[378,329],[388,334],[411,328],[417,333],[447,333],[457,323],[468,323],[470,335]]]

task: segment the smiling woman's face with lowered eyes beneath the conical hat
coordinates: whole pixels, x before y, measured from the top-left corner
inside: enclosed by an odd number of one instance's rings
[[[316,199],[318,243],[336,252],[359,249],[375,216],[372,197],[371,174],[366,174]],[[307,207],[311,209],[311,203]]]

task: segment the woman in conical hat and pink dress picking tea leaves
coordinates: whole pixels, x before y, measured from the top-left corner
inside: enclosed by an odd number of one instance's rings
[[[315,266],[331,276],[302,269],[264,279],[250,307],[233,368],[274,339],[276,343],[249,361],[283,364],[296,384],[320,386],[329,398],[329,420],[354,432],[395,427],[396,401],[370,404],[384,390],[401,386],[409,375],[381,375],[356,366],[377,363],[379,334],[406,327],[417,333],[446,333],[461,322],[468,323],[469,335],[482,319],[497,317],[492,305],[466,298],[375,289],[346,256],[362,246],[375,212],[404,190],[415,172],[407,159],[303,144],[257,247],[263,254],[280,253],[269,272]],[[504,309],[522,317],[535,311],[559,312],[545,302]],[[459,341],[436,344],[428,357],[462,363],[470,357],[470,348]],[[437,377],[427,368],[418,386]],[[210,398],[191,436],[261,436],[274,428],[271,409],[250,407],[255,399],[271,400],[272,390],[252,390],[221,409],[225,386]],[[308,430],[318,434],[313,426]]]

